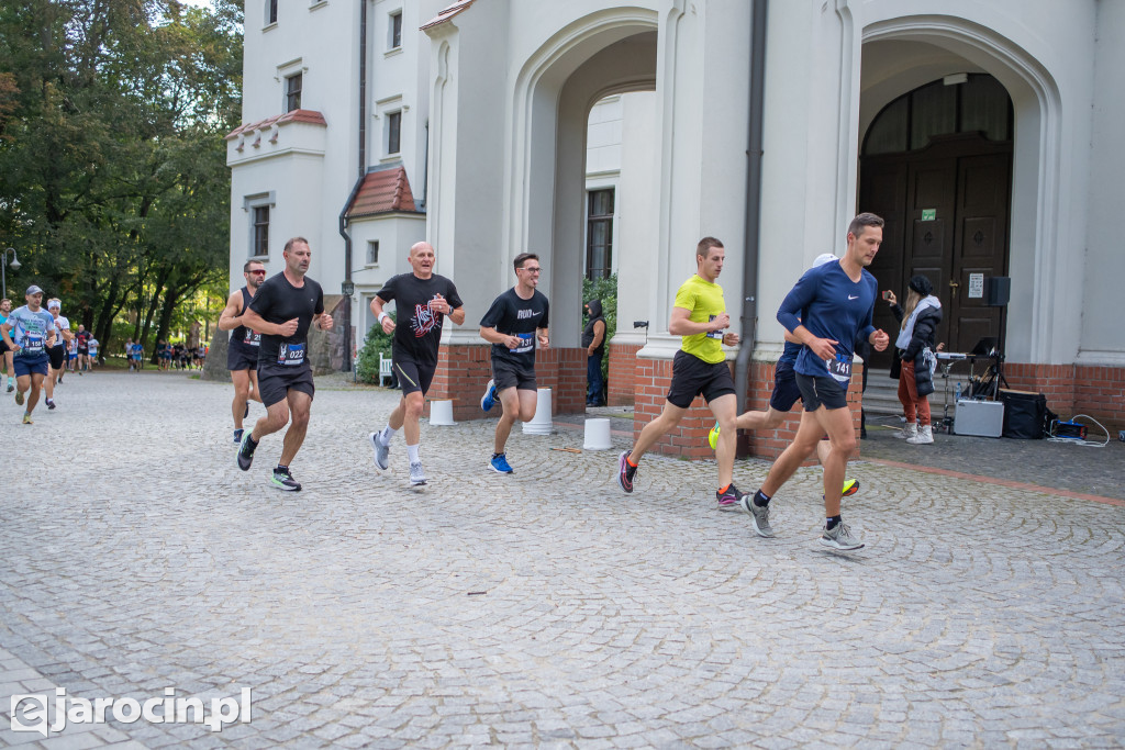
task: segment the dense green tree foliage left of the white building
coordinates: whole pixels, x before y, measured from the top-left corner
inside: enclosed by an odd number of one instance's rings
[[[0,242],[108,349],[146,344],[198,295],[225,299],[241,3],[6,0],[0,6]],[[220,305],[219,305],[220,306]]]

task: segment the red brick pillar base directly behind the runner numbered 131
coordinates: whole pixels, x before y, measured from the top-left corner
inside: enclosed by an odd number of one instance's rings
[[[492,378],[490,347],[487,344],[442,345],[438,370],[428,399],[452,399],[453,419],[483,419],[480,396]],[[536,352],[536,381],[551,389],[554,414],[580,414],[586,410],[586,350],[548,349]],[[429,404],[426,405],[429,415]]]

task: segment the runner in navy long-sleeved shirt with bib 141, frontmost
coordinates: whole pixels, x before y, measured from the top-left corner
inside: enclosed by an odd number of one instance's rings
[[[860,214],[847,232],[847,252],[836,263],[810,269],[785,296],[777,320],[801,342],[793,367],[804,413],[793,443],[777,457],[762,488],[742,498],[759,536],[773,536],[770,500],[817,449],[828,433],[824,466],[825,528],[820,543],[836,550],[863,546],[840,518],[840,488],[855,450],[855,428],[847,408],[855,341],[863,337],[876,351],[886,349],[885,332],[872,325],[878,284],[867,266],[883,242],[883,219]]]

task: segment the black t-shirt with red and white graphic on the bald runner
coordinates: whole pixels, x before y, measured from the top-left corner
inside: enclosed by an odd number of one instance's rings
[[[420,279],[413,272],[400,273],[388,279],[378,295],[385,302],[395,300],[397,310],[392,356],[405,355],[415,362],[436,364],[446,316],[430,309],[430,300],[441,295],[450,308],[461,307],[465,302],[453,282],[436,273],[429,279]]]

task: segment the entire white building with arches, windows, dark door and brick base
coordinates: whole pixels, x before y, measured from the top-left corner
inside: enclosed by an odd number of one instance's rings
[[[489,377],[476,322],[514,283],[511,260],[536,252],[556,412],[584,405],[582,280],[612,270],[611,398],[641,426],[678,346],[675,290],[711,235],[746,342],[732,367],[760,407],[782,297],[870,210],[888,220],[880,288],[928,275],[948,349],[994,338],[1011,388],[1125,423],[1125,1],[448,3],[246,3],[232,284],[249,257],[277,272],[285,241],[307,237],[310,275],[350,322],[339,365],[367,301],[428,240],[468,313],[447,327],[431,396],[474,416]],[[882,306],[876,325],[893,325]],[[694,409],[664,448],[703,455],[708,426]]]

